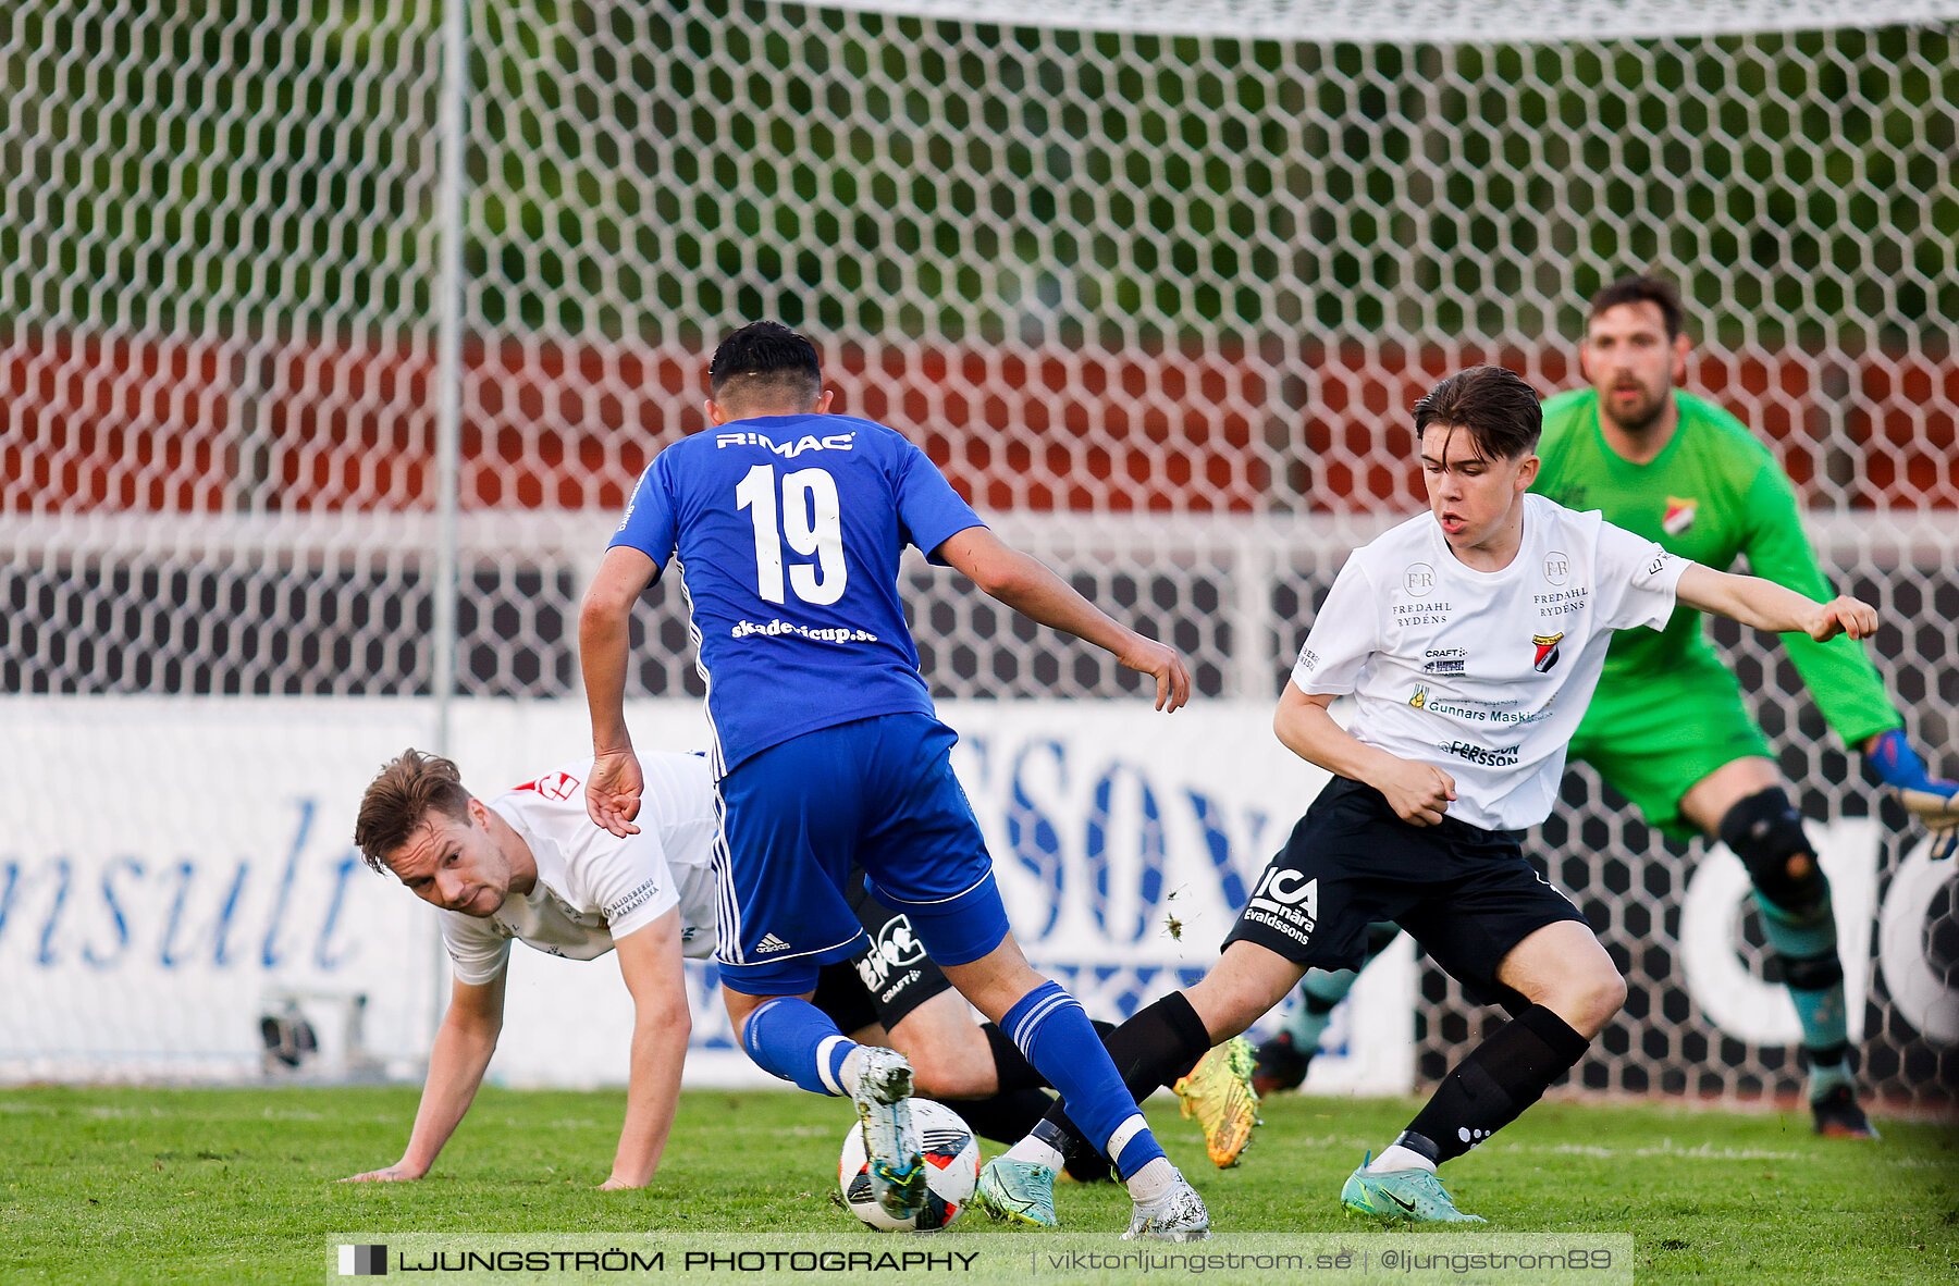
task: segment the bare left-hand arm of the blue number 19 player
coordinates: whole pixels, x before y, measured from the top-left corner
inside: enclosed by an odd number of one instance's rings
[[[635,548],[605,550],[597,575],[578,609],[578,667],[592,711],[592,779],[586,810],[615,836],[637,836],[639,793],[645,787],[633,736],[625,726],[625,662],[633,603],[660,575],[660,566]]]

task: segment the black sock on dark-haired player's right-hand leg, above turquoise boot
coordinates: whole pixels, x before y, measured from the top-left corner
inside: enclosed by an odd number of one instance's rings
[[[1397,1143],[1422,1155],[1434,1149],[1438,1165],[1461,1157],[1538,1102],[1589,1045],[1563,1018],[1532,1004],[1442,1079]]]

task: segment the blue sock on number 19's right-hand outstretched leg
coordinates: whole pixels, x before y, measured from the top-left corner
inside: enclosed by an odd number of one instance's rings
[[[1109,1061],[1095,1026],[1060,983],[1042,983],[1001,1018],[1027,1061],[1062,1094],[1068,1120],[1128,1178],[1164,1155]]]

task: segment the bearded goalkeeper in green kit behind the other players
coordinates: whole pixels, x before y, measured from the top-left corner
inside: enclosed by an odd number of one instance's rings
[[[1581,348],[1591,388],[1544,405],[1544,468],[1532,489],[1569,509],[1601,509],[1606,523],[1702,566],[1724,570],[1745,556],[1755,575],[1828,599],[1775,456],[1738,419],[1675,388],[1689,352],[1681,321],[1679,292],[1657,278],[1626,278],[1593,298]],[[1863,648],[1849,638],[1783,640],[1824,718],[1906,808],[1934,830],[1959,826],[1959,783],[1928,773]],[[1653,826],[1718,838],[1742,859],[1802,1020],[1816,1131],[1875,1137],[1857,1106],[1830,881],[1698,613],[1681,607],[1665,630],[1612,640],[1571,758],[1599,769]],[[1393,928],[1375,926],[1369,947],[1385,947]],[[1287,1028],[1258,1049],[1260,1092],[1305,1080],[1354,977],[1307,973]]]

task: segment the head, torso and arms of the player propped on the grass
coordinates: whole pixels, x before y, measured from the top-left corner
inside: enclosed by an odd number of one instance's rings
[[[646,824],[623,840],[586,816],[590,761],[488,804],[462,787],[454,763],[415,750],[368,785],[355,844],[370,867],[441,908],[454,988],[407,1151],[349,1182],[421,1178],[435,1165],[496,1053],[513,938],[564,959],[619,957],[633,996],[633,1055],[619,1151],[601,1188],[652,1178],[692,1032],[680,961],[715,949],[715,814],[699,756],[646,756],[645,769]]]

